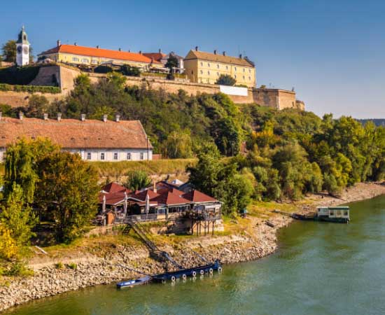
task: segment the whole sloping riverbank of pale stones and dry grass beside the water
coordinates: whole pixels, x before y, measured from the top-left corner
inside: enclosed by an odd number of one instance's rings
[[[209,260],[218,258],[223,263],[255,260],[276,250],[276,231],[292,221],[282,212],[308,214],[315,211],[317,205],[344,204],[383,194],[384,185],[360,183],[344,191],[339,199],[327,195],[309,195],[301,202],[258,203],[253,204],[248,218],[225,220],[226,232],[214,237],[154,236],[154,239],[186,267],[202,263],[189,248],[200,252]],[[274,210],[281,213],[277,214]],[[274,225],[273,228],[265,224],[267,220]],[[149,274],[162,272],[162,266],[148,258],[148,251],[138,241],[124,242],[114,237],[105,238],[104,241],[104,246],[101,246],[99,239],[91,238],[90,243],[93,246],[87,250],[78,246],[57,248],[48,251],[48,255],[36,253],[29,262],[29,267],[34,269],[34,276],[26,279],[3,279],[3,286],[0,287],[0,311],[28,300],[137,276],[123,265]]]

